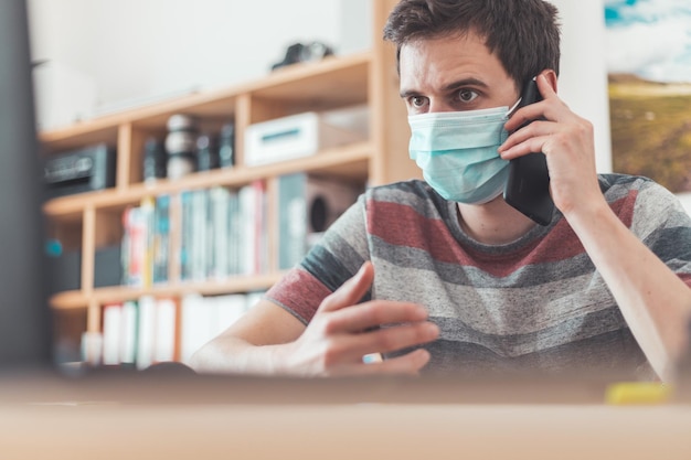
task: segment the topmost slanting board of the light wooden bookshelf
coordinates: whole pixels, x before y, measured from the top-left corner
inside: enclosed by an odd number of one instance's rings
[[[40,140],[51,152],[79,148],[85,145],[115,142],[118,128],[131,124],[139,129],[162,130],[171,114],[185,113],[202,119],[235,114],[238,97],[252,96],[278,105],[289,105],[290,111],[319,110],[334,106],[364,104],[368,100],[370,52],[349,56],[329,56],[321,62],[295,64],[280,68],[265,78],[228,88],[198,92],[172,100],[102,116],[72,126],[40,133]]]

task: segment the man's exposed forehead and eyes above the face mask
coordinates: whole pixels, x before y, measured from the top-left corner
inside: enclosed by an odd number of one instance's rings
[[[408,115],[512,106],[513,79],[475,33],[401,47],[401,97]]]

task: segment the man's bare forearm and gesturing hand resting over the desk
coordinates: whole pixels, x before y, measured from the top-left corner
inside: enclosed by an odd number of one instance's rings
[[[425,350],[380,363],[362,362],[366,354],[421,345],[439,333],[422,306],[383,300],[355,303],[373,277],[372,265],[365,263],[323,300],[307,327],[283,308],[262,301],[199,350],[190,364],[198,372],[259,375],[415,374],[429,360]],[[379,328],[384,324],[395,325]]]

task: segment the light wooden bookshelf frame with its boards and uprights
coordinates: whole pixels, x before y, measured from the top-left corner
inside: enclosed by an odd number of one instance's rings
[[[372,26],[381,29],[397,0],[371,0]],[[329,111],[349,107],[366,107],[369,136],[353,143],[325,148],[316,154],[270,164],[249,167],[244,161],[245,130],[261,121],[305,111]],[[235,127],[235,163],[232,168],[195,172],[176,180],[143,180],[145,143],[150,137],[163,139],[167,121],[174,114],[196,117],[201,131],[217,132],[233,122]],[[419,171],[407,161],[408,127],[405,107],[400,100],[395,50],[390,44],[374,43],[370,51],[343,56],[329,56],[320,62],[294,64],[272,72],[263,78],[224,88],[200,90],[170,100],[158,101],[40,133],[43,153],[57,154],[106,143],[116,150],[115,186],[55,197],[44,203],[49,237],[64,242],[67,249],[78,252],[79,289],[54,293],[50,303],[63,318],[64,327],[72,318],[86,318],[70,333],[99,333],[103,308],[114,302],[136,301],[142,297],[174,298],[185,295],[225,296],[268,289],[284,271],[278,263],[281,178],[308,173],[329,180],[346,181],[358,186],[379,185],[418,178]],[[180,267],[170,261],[166,284],[145,282],[150,287],[96,287],[96,258],[100,249],[119,245],[126,229],[124,216],[145,201],[163,195],[182,200],[182,194],[225,189],[264,188],[266,194],[262,238],[266,240],[266,263],[254,275],[230,275],[222,280],[190,281]],[[178,208],[177,213],[180,213]],[[171,207],[171,215],[173,211]],[[173,222],[173,221],[171,221]],[[180,221],[176,221],[180,222]],[[172,257],[180,256],[183,229],[171,228]],[[240,271],[246,272],[246,271]],[[217,278],[217,277],[216,277]],[[191,279],[198,279],[192,277]],[[62,336],[65,340],[78,340]],[[76,345],[78,349],[78,345]]]

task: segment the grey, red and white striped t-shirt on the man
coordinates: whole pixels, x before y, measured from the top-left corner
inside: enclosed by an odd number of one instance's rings
[[[604,174],[619,218],[691,285],[691,220],[655,182]],[[471,239],[456,203],[423,181],[376,186],[360,196],[267,298],[307,324],[322,299],[365,261],[368,298],[417,302],[440,329],[424,372],[637,373],[646,357],[581,242],[555,211],[504,245]]]

